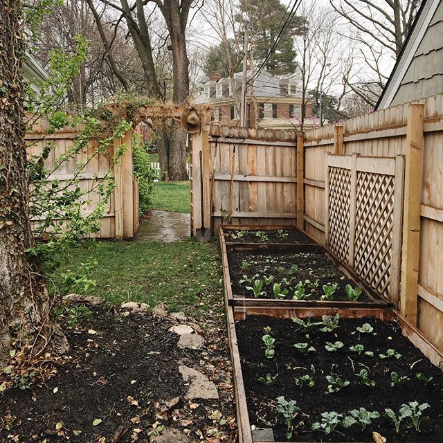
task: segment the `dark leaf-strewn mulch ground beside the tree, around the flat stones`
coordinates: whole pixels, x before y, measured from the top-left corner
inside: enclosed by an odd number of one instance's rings
[[[192,442],[235,441],[226,334],[207,322],[199,332],[204,349],[181,350],[179,336],[168,332],[177,324],[102,308],[73,327],[65,323],[67,363],[54,365],[44,383],[0,394],[0,442],[149,442],[156,422],[181,429]],[[185,399],[179,362],[214,381],[220,399]],[[165,407],[174,397],[177,404]]]

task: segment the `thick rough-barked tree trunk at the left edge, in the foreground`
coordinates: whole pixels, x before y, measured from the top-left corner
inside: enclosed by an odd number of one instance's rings
[[[24,41],[19,0],[0,1],[0,368],[16,347],[45,334],[49,302],[33,246],[28,216],[24,143]],[[38,340],[37,340],[38,341]]]

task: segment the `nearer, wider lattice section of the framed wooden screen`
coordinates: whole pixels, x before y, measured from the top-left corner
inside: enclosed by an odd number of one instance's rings
[[[357,172],[354,269],[389,298],[395,178]]]

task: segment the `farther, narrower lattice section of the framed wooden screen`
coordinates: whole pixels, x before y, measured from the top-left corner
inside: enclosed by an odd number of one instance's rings
[[[349,260],[351,171],[329,168],[329,249]]]

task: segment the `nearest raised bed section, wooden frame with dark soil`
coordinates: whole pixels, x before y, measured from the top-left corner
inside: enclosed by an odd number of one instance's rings
[[[253,315],[260,314],[260,309],[228,307],[240,442],[366,443],[374,441],[373,431],[386,437],[389,443],[442,441],[443,372],[435,365],[443,366],[443,355],[394,311],[295,308],[280,311],[268,309],[273,317]],[[322,315],[333,318],[335,314],[340,316],[338,327],[329,332],[320,331],[324,324],[304,331],[302,325],[290,318],[297,316],[305,323],[308,318],[320,322]],[[368,317],[368,314],[372,315]],[[242,320],[235,324],[234,316]],[[365,323],[370,327],[363,326]],[[359,332],[357,327],[368,329],[369,332]],[[266,334],[275,339],[271,345],[275,352],[272,358],[265,355],[263,336]],[[305,351],[302,345],[298,346],[301,350],[294,347],[296,343],[307,343]],[[350,350],[356,345],[363,345],[360,354],[355,348]],[[308,352],[309,347],[314,347],[315,351]],[[332,347],[336,347],[336,350],[332,350]],[[373,355],[365,352],[372,352]],[[379,354],[388,358],[381,358]],[[368,384],[355,375],[361,375],[362,370],[368,371]],[[278,376],[275,377],[275,374]],[[420,374],[419,378],[417,374]],[[311,378],[300,379],[306,375]],[[259,381],[260,377],[264,380]],[[334,377],[334,380],[326,377]],[[339,386],[337,377],[349,383],[336,390]],[[311,381],[315,384],[309,387]],[[375,386],[371,386],[372,382]],[[391,386],[392,383],[394,386]],[[300,384],[303,386],[298,386]],[[300,408],[292,414],[292,435],[289,439],[285,435],[287,422],[276,408],[277,399],[282,396],[286,401],[296,401],[296,406]],[[422,416],[428,416],[430,421],[422,421],[421,432],[418,432],[410,428],[412,420],[406,416],[401,421],[399,433],[396,433],[395,424],[384,416],[386,409],[394,410],[398,417],[402,405],[409,405],[413,401],[419,405],[429,405],[422,410]],[[379,413],[380,417],[374,414],[363,429],[351,412],[360,408]],[[352,417],[356,423],[347,428],[338,424],[330,433],[316,430],[315,424],[322,423],[321,414],[332,411],[342,415],[338,417],[340,422],[345,417]],[[352,422],[352,419],[347,419],[347,422]],[[254,433],[251,426],[255,428]],[[257,432],[258,428],[266,431]]]

